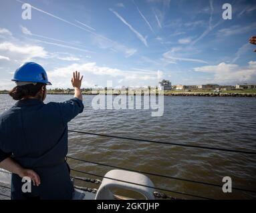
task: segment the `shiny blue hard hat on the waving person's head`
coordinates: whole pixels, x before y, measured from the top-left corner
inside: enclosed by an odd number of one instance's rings
[[[45,83],[46,85],[51,85],[43,67],[34,62],[27,62],[21,65],[21,67],[15,71],[14,77],[11,81]]]

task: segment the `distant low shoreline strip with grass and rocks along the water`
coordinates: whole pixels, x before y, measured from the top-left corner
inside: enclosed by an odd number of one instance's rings
[[[5,91],[0,91],[0,94],[8,94]],[[83,95],[98,95],[100,93],[92,94],[90,92],[84,92]],[[47,95],[74,95],[74,93],[47,93]],[[107,95],[107,94],[105,94]],[[113,93],[112,95],[128,95],[126,93]],[[142,96],[144,94],[142,93]],[[156,93],[156,95],[158,95]],[[164,93],[164,96],[196,96],[196,97],[256,97],[256,93],[194,93],[194,92],[169,92]]]

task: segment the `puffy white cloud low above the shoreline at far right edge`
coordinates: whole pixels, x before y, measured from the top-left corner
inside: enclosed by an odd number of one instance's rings
[[[204,67],[195,67],[195,71],[213,73],[216,83],[245,83],[256,80],[256,61],[250,61],[247,67],[220,63]]]

